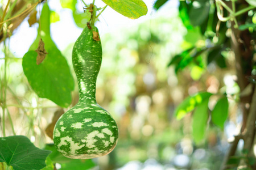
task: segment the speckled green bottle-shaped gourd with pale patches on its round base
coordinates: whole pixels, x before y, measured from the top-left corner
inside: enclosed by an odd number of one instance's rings
[[[61,154],[73,159],[90,159],[111,152],[118,140],[113,117],[96,102],[96,80],[101,67],[101,41],[93,40],[96,27],[85,27],[72,52],[79,85],[79,102],[56,122],[53,142]]]

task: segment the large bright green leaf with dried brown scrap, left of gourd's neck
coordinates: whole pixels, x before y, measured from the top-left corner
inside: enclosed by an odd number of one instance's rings
[[[22,61],[23,71],[32,89],[39,97],[52,100],[61,107],[68,107],[72,102],[71,91],[74,81],[67,60],[53,42],[50,36],[50,11],[47,3],[44,4],[41,16],[41,35],[48,53],[39,65],[36,64],[34,51],[38,48],[40,35],[30,47]]]

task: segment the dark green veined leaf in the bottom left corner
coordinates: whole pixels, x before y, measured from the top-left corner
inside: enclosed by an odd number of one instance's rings
[[[0,162],[15,170],[42,169],[51,151],[40,150],[22,135],[0,138]]]

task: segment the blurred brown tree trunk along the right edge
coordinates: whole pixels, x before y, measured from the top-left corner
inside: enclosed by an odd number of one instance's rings
[[[230,8],[232,7],[232,2],[225,2]],[[246,4],[245,1],[241,1],[238,3]],[[247,14],[243,14],[240,18],[237,19],[238,24],[245,24],[245,18]],[[237,74],[237,83],[240,87],[240,91],[245,90],[246,86],[249,84],[249,81],[246,79],[246,76],[251,75],[252,70],[252,62],[253,62],[253,48],[251,46],[251,37],[249,35],[249,31],[240,31],[236,28],[236,23],[234,21],[231,22],[231,44],[232,50],[234,52],[234,56],[236,59],[236,74]],[[246,108],[246,104],[250,103],[250,108]],[[243,116],[242,127],[240,131],[240,135],[243,135],[244,146],[243,150],[247,152],[250,151],[254,139],[255,133],[255,120],[256,120],[256,90],[254,90],[253,94],[241,97],[240,99],[240,107]],[[238,142],[241,138],[236,138],[227,152],[224,162],[222,164],[221,169],[226,169],[226,163],[230,159],[230,157],[234,156],[237,150]],[[247,156],[247,155],[245,155]],[[245,160],[241,159],[240,167],[244,167]],[[247,165],[246,165],[247,166]]]

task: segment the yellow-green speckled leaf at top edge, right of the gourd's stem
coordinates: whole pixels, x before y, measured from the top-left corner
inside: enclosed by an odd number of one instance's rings
[[[147,6],[142,0],[102,0],[119,14],[131,19],[137,19],[147,14]]]

